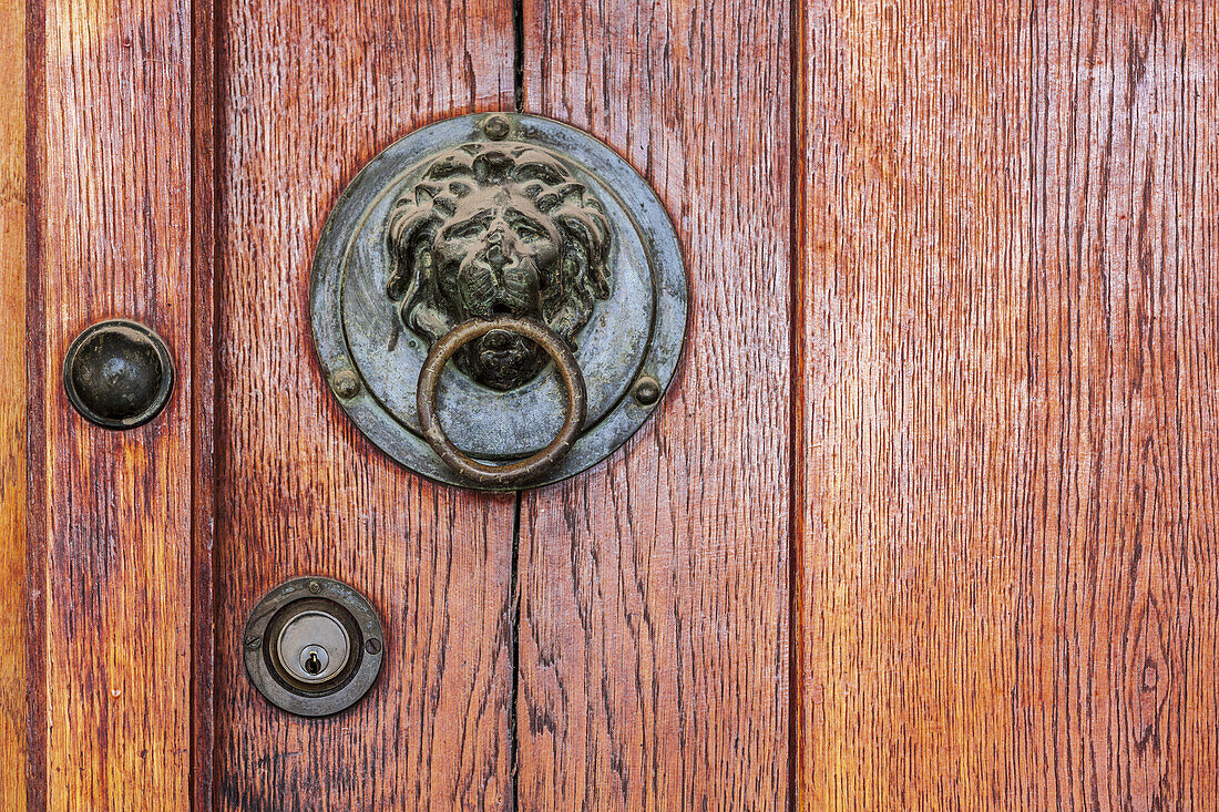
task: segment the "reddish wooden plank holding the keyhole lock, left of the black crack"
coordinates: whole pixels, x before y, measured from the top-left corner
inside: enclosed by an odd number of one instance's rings
[[[356,171],[416,127],[512,105],[511,4],[223,2],[217,72],[217,802],[510,808],[514,500],[427,483],[347,421],[308,324],[313,248]],[[289,577],[378,607],[386,658],[302,719],[246,679],[241,627]]]

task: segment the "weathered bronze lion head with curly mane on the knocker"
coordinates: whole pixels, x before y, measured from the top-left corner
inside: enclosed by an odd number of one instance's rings
[[[597,299],[610,296],[610,223],[600,201],[550,152],[519,143],[466,144],[438,156],[394,202],[386,293],[429,341],[471,318],[539,321],[574,349]],[[491,330],[457,367],[497,390],[528,383],[549,356]]]

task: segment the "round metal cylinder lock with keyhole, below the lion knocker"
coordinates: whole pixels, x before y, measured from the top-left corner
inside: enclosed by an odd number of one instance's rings
[[[318,639],[306,639],[310,633]],[[384,640],[367,597],[333,578],[304,575],[263,595],[250,613],[243,635],[245,671],[260,694],[289,713],[330,716],[368,693],[380,673]],[[329,652],[319,651],[321,679],[305,668],[305,657],[318,649]]]

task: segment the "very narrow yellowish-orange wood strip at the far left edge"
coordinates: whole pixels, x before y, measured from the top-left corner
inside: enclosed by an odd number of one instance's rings
[[[0,807],[26,808],[26,4],[0,4]]]

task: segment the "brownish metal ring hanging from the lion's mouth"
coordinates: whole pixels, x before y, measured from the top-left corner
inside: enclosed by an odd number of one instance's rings
[[[436,417],[436,386],[440,384],[441,369],[457,350],[491,330],[510,330],[536,343],[555,360],[558,374],[567,386],[567,418],[555,439],[531,457],[501,466],[478,462],[463,454],[445,434],[440,419]],[[572,354],[563,339],[545,324],[527,318],[511,317],[472,318],[445,333],[439,341],[432,345],[428,358],[423,362],[423,368],[419,369],[419,386],[416,397],[419,407],[419,427],[423,429],[423,436],[432,444],[432,449],[462,477],[480,485],[491,486],[518,485],[552,468],[572,450],[575,438],[584,428],[584,418],[589,408],[584,374],[575,361],[575,355]]]

